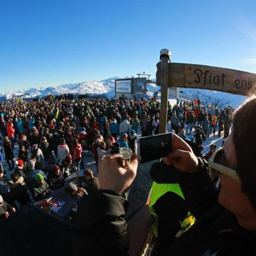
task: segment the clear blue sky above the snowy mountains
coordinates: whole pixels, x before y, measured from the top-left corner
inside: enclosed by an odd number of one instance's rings
[[[172,62],[256,73],[256,1],[0,0],[0,92]]]

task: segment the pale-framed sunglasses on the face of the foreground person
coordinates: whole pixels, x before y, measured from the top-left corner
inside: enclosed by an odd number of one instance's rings
[[[211,178],[213,179],[214,177],[216,177],[218,173],[223,173],[224,175],[232,177],[232,179],[241,182],[236,170],[223,165],[225,159],[225,152],[223,148],[219,148],[214,152],[214,154],[212,154],[208,162],[209,175],[211,176]]]

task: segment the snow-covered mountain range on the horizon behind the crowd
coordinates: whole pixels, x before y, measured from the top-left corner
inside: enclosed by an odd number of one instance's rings
[[[109,79],[101,81],[86,81],[82,83],[62,84],[60,86],[33,87],[16,91],[7,91],[5,93],[0,93],[0,101],[5,101],[6,95],[11,98],[41,98],[48,94],[58,95],[65,93],[105,95],[106,97],[111,98],[115,97],[115,79],[120,79],[120,77],[111,77]],[[147,88],[149,93],[161,89],[161,87],[157,86],[156,84],[148,84]],[[180,91],[183,92],[180,93],[180,97],[186,97],[190,99],[200,98],[201,101],[207,103],[217,103],[221,107],[231,105],[236,108],[244,101],[244,99],[246,99],[245,96],[227,94],[220,91],[209,91],[190,88],[180,88]]]

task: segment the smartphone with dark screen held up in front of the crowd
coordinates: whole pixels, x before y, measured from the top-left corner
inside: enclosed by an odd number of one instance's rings
[[[137,138],[135,153],[141,157],[141,163],[166,157],[172,152],[173,133],[163,133],[154,136]]]

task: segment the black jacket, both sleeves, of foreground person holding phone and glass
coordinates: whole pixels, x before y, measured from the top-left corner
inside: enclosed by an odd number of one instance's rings
[[[170,239],[164,255],[255,255],[256,232],[240,227],[236,216],[218,204],[203,162],[195,173],[176,174],[197,222],[179,239]],[[127,255],[125,206],[125,199],[110,191],[84,197],[74,221],[74,255]]]

